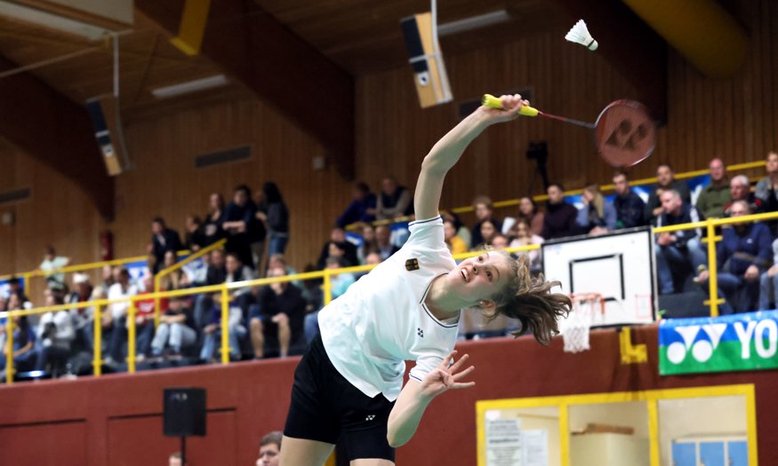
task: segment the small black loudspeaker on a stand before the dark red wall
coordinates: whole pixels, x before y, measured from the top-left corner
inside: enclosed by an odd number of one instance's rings
[[[205,389],[164,389],[164,435],[205,437]]]

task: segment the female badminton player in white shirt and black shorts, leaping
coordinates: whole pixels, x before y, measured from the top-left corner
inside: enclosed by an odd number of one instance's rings
[[[467,355],[453,362],[463,308],[521,320],[541,344],[557,333],[570,300],[558,282],[533,278],[526,260],[490,251],[457,265],[438,214],[446,172],[488,126],[508,122],[527,102],[501,97],[503,109],[479,107],[440,139],[421,163],[413,205],[417,220],[402,249],[319,312],[315,338],[294,372],[281,463],[318,466],[341,439],[354,466],[394,464],[394,448],[419,426],[441,393],[472,387]],[[403,387],[405,360],[416,361]]]

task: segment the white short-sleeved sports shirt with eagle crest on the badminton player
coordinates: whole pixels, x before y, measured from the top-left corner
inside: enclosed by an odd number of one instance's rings
[[[405,361],[421,382],[456,343],[459,317],[437,320],[427,306],[432,281],[456,263],[445,247],[441,217],[409,226],[402,249],[319,312],[322,341],[333,366],[365,395],[394,401]]]

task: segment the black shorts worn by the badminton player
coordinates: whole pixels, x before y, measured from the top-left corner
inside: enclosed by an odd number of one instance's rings
[[[284,435],[339,444],[349,461],[394,462],[395,449],[386,439],[394,405],[381,393],[370,398],[349,383],[330,362],[321,336],[316,336],[294,371]]]

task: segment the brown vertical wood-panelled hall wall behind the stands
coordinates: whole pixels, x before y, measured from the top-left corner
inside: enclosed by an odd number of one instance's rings
[[[652,176],[660,161],[672,162],[677,171],[697,170],[714,156],[727,163],[753,161],[778,146],[778,4],[732,4],[750,34],[749,58],[732,78],[711,80],[670,49],[668,122],[659,130],[656,153],[631,170],[633,178]],[[564,33],[553,30],[489,50],[446,55],[456,100],[428,110],[418,105],[409,67],[357,76],[357,178],[375,189],[392,173],[413,186],[423,155],[458,121],[458,104],[485,91],[531,87],[537,107],[588,121],[612,100],[633,97],[614,67],[596,52],[565,43]],[[27,201],[0,206],[0,213],[16,215],[15,225],[0,225],[0,273],[35,268],[47,243],[75,264],[98,260],[98,235],[106,226],[115,236],[116,257],[140,255],[151,217],[161,215],[181,230],[189,212],[203,214],[208,194],[229,194],[243,182],[259,187],[268,179],[281,187],[292,211],[288,256],[300,269],[317,256],[333,218],[349,201],[350,184],[333,167],[311,169],[312,158],[324,154],[322,146],[260,101],[209,104],[127,122],[124,130],[135,168],[116,179],[116,218],[108,224],[66,178],[11,146],[0,146],[3,186],[33,189]],[[493,200],[525,194],[534,177],[525,150],[537,140],[549,144],[550,178],[569,187],[610,182],[612,169],[595,154],[589,130],[523,120],[492,128],[473,144],[452,170],[441,205],[467,205],[476,194]],[[249,161],[194,168],[199,154],[245,145],[253,148]],[[534,186],[540,193],[540,179]]]

